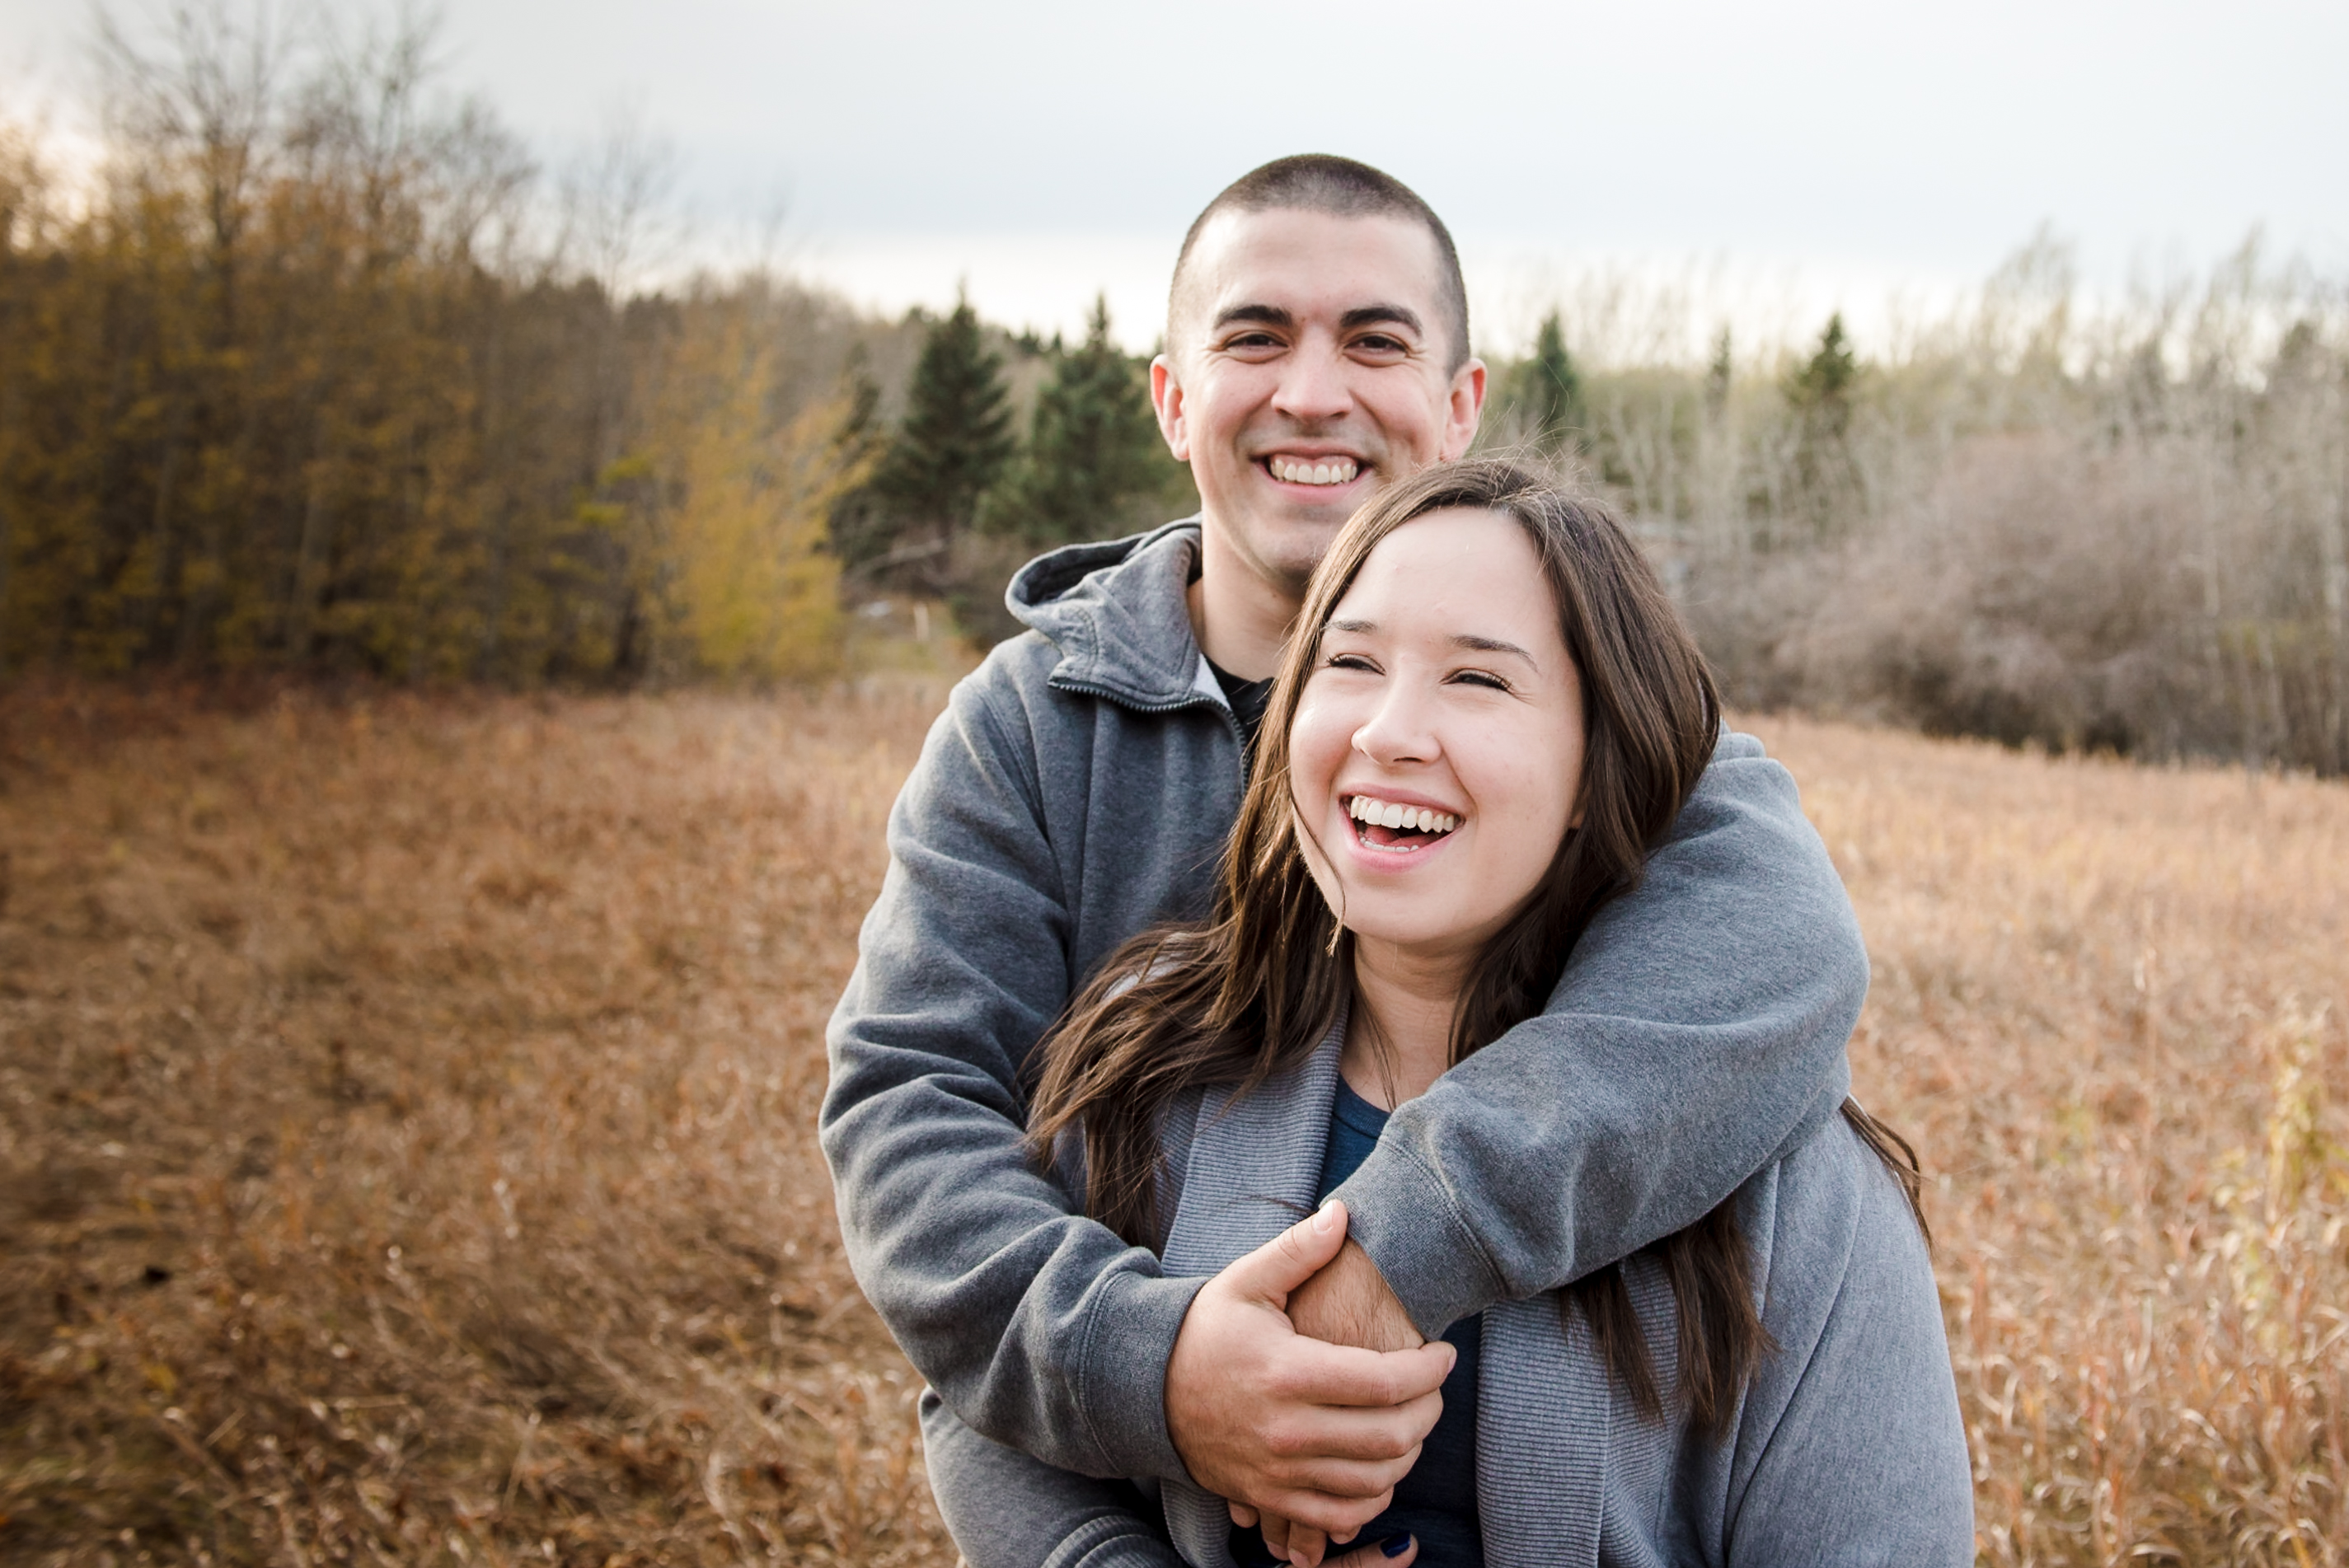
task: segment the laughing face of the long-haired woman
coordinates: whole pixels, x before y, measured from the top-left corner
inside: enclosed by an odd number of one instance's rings
[[[1299,840],[1346,927],[1475,953],[1581,822],[1581,777],[1583,685],[1525,530],[1447,509],[1386,535],[1290,728]]]

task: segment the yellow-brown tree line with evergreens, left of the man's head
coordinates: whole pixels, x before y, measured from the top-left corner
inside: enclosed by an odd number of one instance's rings
[[[263,21],[106,33],[89,185],[0,124],[0,671],[813,674],[843,592],[984,613],[1005,554],[1174,488],[1104,312],[1064,347],[632,289],[641,138],[552,181],[428,26]]]

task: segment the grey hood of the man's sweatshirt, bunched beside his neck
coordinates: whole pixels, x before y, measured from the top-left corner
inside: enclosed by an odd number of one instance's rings
[[[1012,575],[1005,608],[1059,648],[1052,685],[1149,711],[1200,699],[1205,664],[1189,601],[1198,528],[1186,516],[1123,540],[1064,545]]]

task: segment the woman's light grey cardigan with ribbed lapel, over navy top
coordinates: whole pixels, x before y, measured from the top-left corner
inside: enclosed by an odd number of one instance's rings
[[[1163,1261],[1212,1275],[1313,1202],[1341,1028],[1245,1099],[1167,1117]],[[1924,1239],[1837,1117],[1736,1195],[1776,1343],[1724,1441],[1628,1401],[1557,1293],[1485,1312],[1478,1507],[1489,1568],[1534,1563],[1971,1563],[1973,1483]],[[1626,1265],[1658,1383],[1677,1317],[1661,1265]],[[1229,1568],[1221,1498],[1156,1486],[1165,1537],[1111,1488],[1001,1448],[923,1399],[930,1486],[970,1568]],[[1170,1540],[1172,1537],[1172,1545]]]

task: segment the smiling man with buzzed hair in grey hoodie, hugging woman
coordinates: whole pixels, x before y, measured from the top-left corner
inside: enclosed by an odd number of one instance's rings
[[[824,1155],[857,1282],[972,1430],[1346,1537],[1435,1420],[1449,1352],[1421,1336],[1670,1235],[1809,1136],[1867,965],[1785,770],[1724,737],[1550,1009],[1395,1113],[1301,1291],[1261,1256],[1167,1279],[1073,1216],[1027,1160],[1022,1063],[1111,948],[1205,913],[1313,563],[1473,441],[1452,237],[1377,169],[1257,169],[1184,239],[1151,397],[1200,516],[1012,582],[1031,631],[954,690],[890,815]]]

